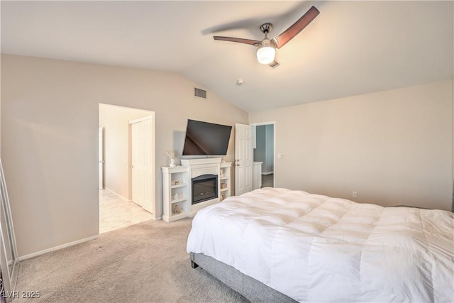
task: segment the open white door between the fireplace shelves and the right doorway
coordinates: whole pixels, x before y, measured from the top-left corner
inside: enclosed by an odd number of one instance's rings
[[[253,127],[235,124],[235,195],[253,188]]]

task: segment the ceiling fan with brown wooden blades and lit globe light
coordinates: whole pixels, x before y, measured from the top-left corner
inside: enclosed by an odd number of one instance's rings
[[[271,23],[263,23],[260,26],[260,31],[265,34],[263,40],[250,40],[243,38],[233,38],[233,37],[223,37],[220,35],[215,35],[214,40],[224,40],[238,43],[245,43],[254,45],[257,47],[257,60],[262,64],[270,65],[271,67],[277,67],[279,65],[275,60],[276,48],[282,48],[289,40],[292,40],[295,35],[298,35],[306,26],[311,23],[316,16],[318,16],[320,11],[316,9],[315,6],[312,6],[309,11],[306,11],[297,22],[293,23],[292,26],[287,28],[285,31],[277,35],[275,38],[268,38],[268,34],[272,30]]]

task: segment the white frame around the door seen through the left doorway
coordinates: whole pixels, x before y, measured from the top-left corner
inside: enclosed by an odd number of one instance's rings
[[[133,199],[133,157],[132,157],[132,148],[133,148],[133,138],[132,138],[132,124],[133,123],[138,123],[141,121],[145,120],[151,120],[151,143],[150,143],[150,150],[153,153],[153,155],[150,157],[151,160],[151,172],[150,172],[150,197],[151,197],[151,208],[149,209],[151,211],[151,214],[153,215],[153,218],[156,220],[157,219],[157,214],[156,214],[156,126],[155,126],[155,112],[150,111],[150,114],[147,116],[140,117],[138,119],[133,119],[129,121],[129,140],[128,140],[128,149],[129,149],[129,170],[128,170],[128,180],[129,180],[129,197],[131,197],[131,201]]]

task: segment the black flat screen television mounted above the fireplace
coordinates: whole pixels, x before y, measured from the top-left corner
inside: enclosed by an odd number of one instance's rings
[[[232,126],[188,119],[182,155],[227,155]]]

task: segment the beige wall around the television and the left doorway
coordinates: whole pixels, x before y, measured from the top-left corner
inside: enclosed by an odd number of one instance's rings
[[[98,234],[99,103],[155,111],[160,208],[164,153],[181,153],[188,118],[248,122],[211,92],[208,100],[193,97],[194,86],[172,72],[1,55],[1,159],[19,255]]]

